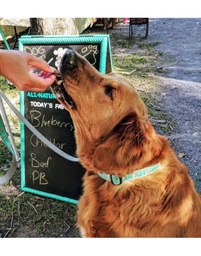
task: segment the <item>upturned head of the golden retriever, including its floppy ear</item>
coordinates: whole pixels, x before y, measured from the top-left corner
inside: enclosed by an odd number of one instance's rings
[[[81,163],[113,174],[140,166],[153,128],[131,82],[100,73],[73,50],[63,56],[60,73],[52,90],[73,119]]]

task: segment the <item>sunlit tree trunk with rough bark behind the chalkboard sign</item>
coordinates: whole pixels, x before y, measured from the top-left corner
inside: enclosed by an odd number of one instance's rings
[[[78,35],[75,18],[30,18],[31,35]]]

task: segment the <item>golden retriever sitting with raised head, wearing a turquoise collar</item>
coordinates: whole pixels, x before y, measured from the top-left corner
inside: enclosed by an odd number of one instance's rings
[[[130,81],[68,49],[52,90],[70,112],[86,168],[82,236],[201,237],[201,195]]]

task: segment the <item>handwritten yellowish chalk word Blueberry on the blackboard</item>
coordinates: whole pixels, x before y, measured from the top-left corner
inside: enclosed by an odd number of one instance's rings
[[[59,128],[67,128],[67,126],[70,125],[70,123],[56,120],[54,116],[52,116],[50,120],[45,120],[45,115],[41,115],[41,112],[37,110],[30,111],[30,114],[33,127],[57,126]]]

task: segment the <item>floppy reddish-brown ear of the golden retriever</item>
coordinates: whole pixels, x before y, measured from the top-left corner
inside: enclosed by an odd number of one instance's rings
[[[93,164],[99,171],[117,171],[137,163],[142,157],[146,123],[136,114],[125,116],[109,135],[101,138]]]

